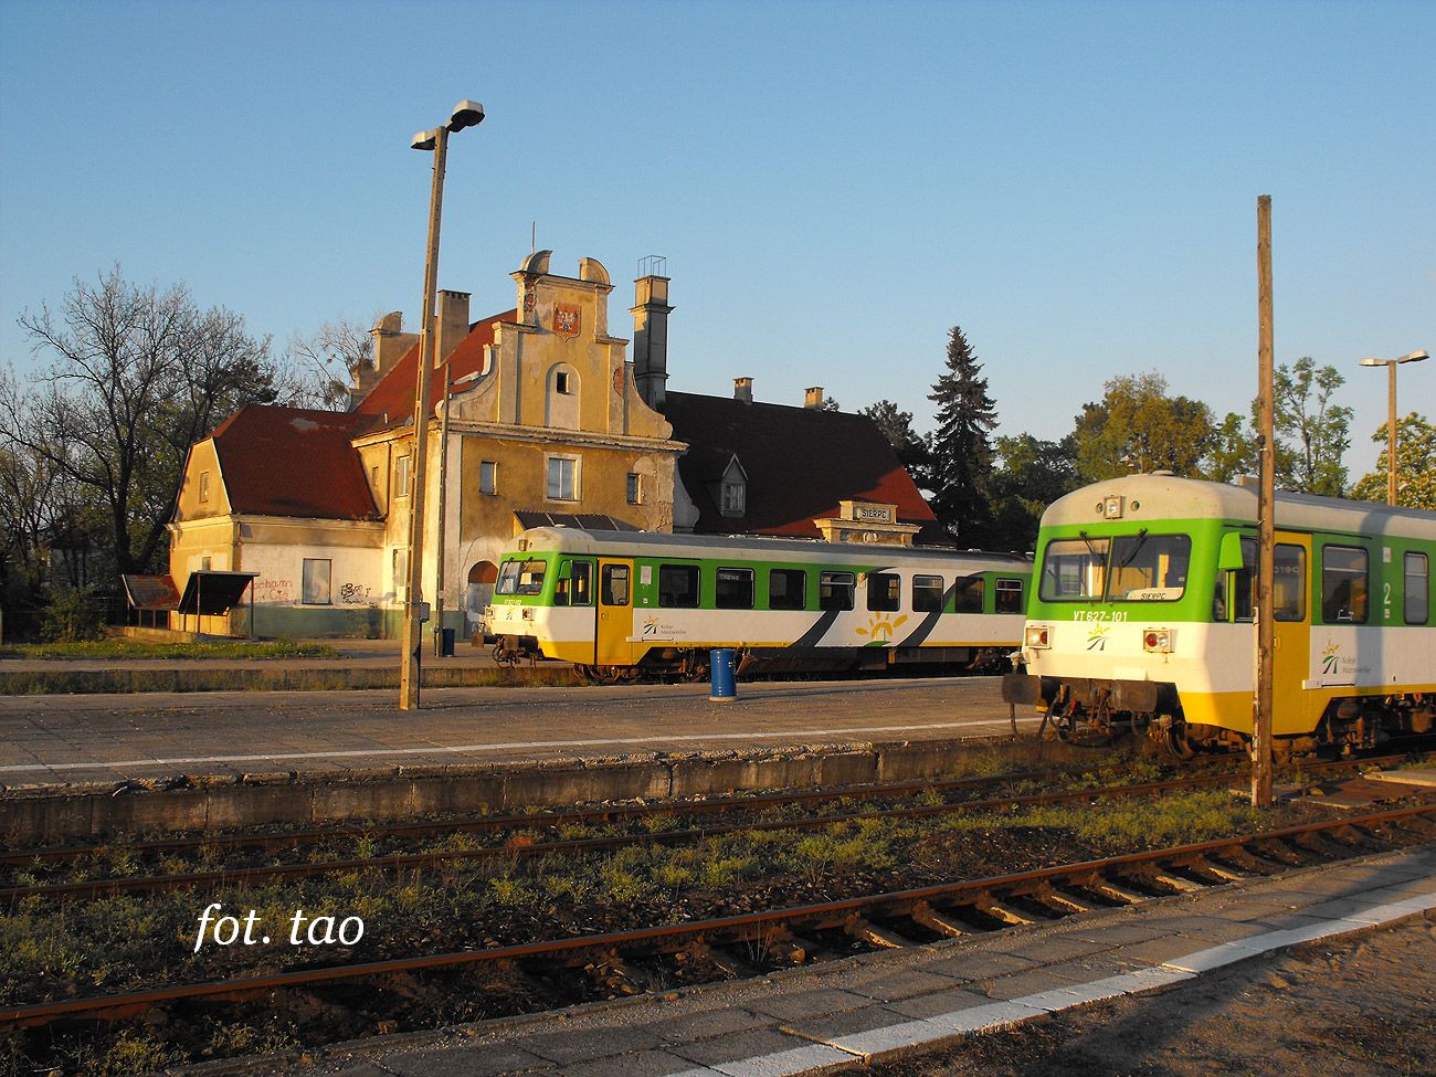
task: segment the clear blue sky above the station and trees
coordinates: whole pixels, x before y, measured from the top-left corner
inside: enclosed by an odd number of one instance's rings
[[[1218,415],[1256,388],[1256,197],[1278,362],[1386,381],[1436,346],[1436,4],[0,4],[0,360],[75,276],[187,283],[283,346],[418,322],[429,157],[460,98],[439,286],[513,306],[530,250],[595,257],[629,335],[668,258],[669,386],[926,429],[946,330],[1002,432],[1055,438],[1119,373]],[[1402,411],[1436,418],[1436,360]]]

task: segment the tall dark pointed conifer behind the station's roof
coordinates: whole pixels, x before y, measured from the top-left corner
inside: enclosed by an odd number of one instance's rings
[[[928,395],[938,405],[938,426],[928,441],[932,511],[958,546],[979,547],[992,527],[989,435],[997,428],[997,405],[988,396],[982,365],[958,326],[948,335],[946,366]]]

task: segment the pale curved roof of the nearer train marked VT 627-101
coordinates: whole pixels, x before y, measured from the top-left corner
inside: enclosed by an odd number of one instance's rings
[[[1048,505],[1043,527],[1106,520],[1103,505],[1123,498],[1122,520],[1234,520],[1256,523],[1256,490],[1196,478],[1149,474],[1093,482]],[[1297,531],[1343,531],[1436,538],[1436,513],[1377,501],[1348,501],[1317,494],[1277,493],[1277,527]]]

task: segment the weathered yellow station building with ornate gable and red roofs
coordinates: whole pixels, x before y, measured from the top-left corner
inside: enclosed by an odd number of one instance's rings
[[[607,271],[513,273],[511,310],[470,320],[441,292],[425,460],[425,596],[442,561],[444,626],[475,622],[516,534],[540,524],[941,543],[932,510],[877,426],[734,395],[668,392],[669,280],[635,283],[633,356],[609,333]],[[661,266],[653,266],[661,269]],[[171,628],[260,636],[396,636],[409,577],[419,335],[373,327],[350,409],[250,405],[197,442],[171,531],[169,592],[253,577],[223,616]]]

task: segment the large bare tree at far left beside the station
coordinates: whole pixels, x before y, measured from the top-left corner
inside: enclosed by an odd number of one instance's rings
[[[118,264],[19,322],[50,363],[0,385],[0,439],[99,503],[118,572],[152,567],[190,445],[244,404],[276,401],[269,337],[200,310],[184,286],[131,284]]]

